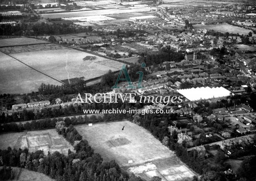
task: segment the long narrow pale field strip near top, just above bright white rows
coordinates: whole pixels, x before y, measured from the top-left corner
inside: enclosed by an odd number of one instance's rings
[[[68,12],[68,13],[50,13],[50,14],[41,14],[43,18],[65,18],[65,17],[80,17],[80,16],[92,16],[92,15],[111,15],[119,13],[134,13],[134,12],[144,12],[151,11],[153,8],[139,8],[139,9],[101,9],[101,10],[92,10],[92,11],[77,11],[77,12]]]

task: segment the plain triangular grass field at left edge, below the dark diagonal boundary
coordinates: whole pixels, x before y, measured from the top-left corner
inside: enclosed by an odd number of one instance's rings
[[[0,56],[0,94],[36,92],[41,83],[61,84],[2,52]]]

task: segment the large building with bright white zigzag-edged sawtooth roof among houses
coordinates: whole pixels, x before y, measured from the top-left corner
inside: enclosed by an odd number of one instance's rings
[[[193,87],[191,89],[178,89],[177,92],[191,101],[220,98],[232,95],[232,92],[224,87]]]

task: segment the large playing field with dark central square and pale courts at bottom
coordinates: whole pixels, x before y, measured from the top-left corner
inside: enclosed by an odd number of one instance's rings
[[[195,175],[173,151],[130,121],[75,127],[104,160],[116,160],[122,168],[146,180],[158,175],[163,181],[179,181]],[[128,160],[132,163],[128,164]]]

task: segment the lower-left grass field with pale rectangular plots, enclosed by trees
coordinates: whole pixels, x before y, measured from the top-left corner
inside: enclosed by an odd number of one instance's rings
[[[27,147],[30,152],[43,150],[46,155],[48,151],[51,153],[59,151],[65,155],[67,155],[68,149],[74,151],[72,145],[55,129],[1,134],[0,143],[0,149]]]

